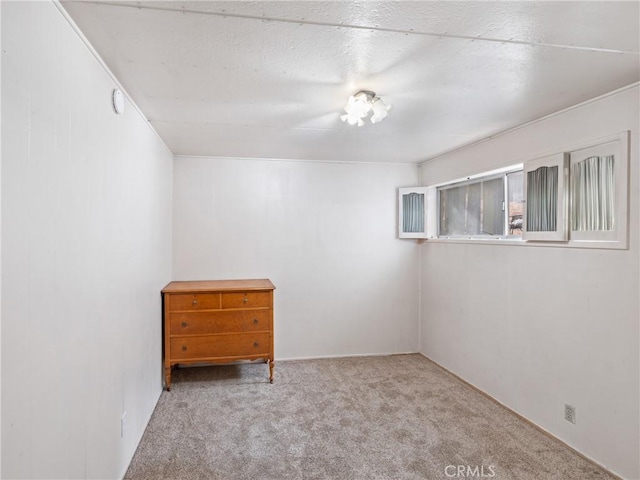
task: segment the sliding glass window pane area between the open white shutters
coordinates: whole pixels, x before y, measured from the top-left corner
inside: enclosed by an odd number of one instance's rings
[[[438,187],[438,236],[519,236],[522,171],[514,168]]]

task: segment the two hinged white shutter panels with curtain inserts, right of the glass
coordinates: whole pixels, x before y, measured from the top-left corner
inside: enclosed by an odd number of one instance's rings
[[[626,248],[628,149],[624,132],[526,162],[523,239]]]

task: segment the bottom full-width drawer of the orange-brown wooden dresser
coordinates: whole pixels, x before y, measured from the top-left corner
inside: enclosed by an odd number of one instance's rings
[[[171,338],[172,360],[269,355],[270,351],[268,332]]]

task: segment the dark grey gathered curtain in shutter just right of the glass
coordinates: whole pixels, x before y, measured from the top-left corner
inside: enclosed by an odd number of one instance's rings
[[[555,232],[558,211],[558,167],[527,172],[527,230]]]

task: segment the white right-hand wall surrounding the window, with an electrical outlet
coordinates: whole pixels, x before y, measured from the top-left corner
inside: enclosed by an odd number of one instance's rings
[[[422,166],[422,183],[433,184],[630,130],[628,250],[427,242],[421,252],[422,352],[634,479],[640,477],[638,90]],[[576,407],[575,425],[564,420],[564,403]]]

